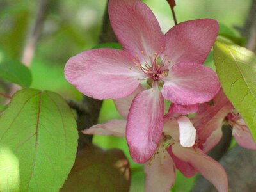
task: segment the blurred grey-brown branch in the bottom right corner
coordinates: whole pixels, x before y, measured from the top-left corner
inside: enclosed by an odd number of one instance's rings
[[[236,145],[220,163],[225,168],[228,175],[228,184],[230,191],[255,191],[256,189],[256,151],[248,150]],[[216,191],[214,186],[204,178],[196,182],[192,192],[213,192]]]

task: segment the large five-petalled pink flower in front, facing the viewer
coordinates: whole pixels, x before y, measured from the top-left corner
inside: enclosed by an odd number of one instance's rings
[[[163,35],[154,14],[139,0],[109,0],[109,18],[124,50],[84,51],[68,60],[65,77],[96,99],[127,97],[140,81],[152,81],[152,90],[136,95],[127,117],[130,152],[140,154],[136,162],[145,163],[161,140],[164,98],[191,105],[211,100],[218,92],[215,72],[201,65],[216,40],[218,23],[190,20]]]

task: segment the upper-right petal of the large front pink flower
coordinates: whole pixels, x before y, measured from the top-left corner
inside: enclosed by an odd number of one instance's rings
[[[218,35],[218,22],[198,19],[182,22],[164,35],[164,53],[172,65],[179,62],[204,63]]]

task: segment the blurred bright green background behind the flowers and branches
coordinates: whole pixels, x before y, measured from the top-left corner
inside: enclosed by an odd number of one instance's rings
[[[156,15],[164,33],[172,28],[172,13],[166,0],[147,0],[145,3]],[[233,29],[244,25],[250,9],[250,0],[176,0],[176,3],[178,22],[212,18]],[[67,99],[81,100],[81,93],[65,81],[63,68],[70,56],[97,45],[105,6],[106,0],[51,1],[47,6],[44,27],[30,66],[33,76],[32,88],[52,90]],[[37,1],[0,0],[0,62],[21,60],[28,33],[35,22],[36,10]],[[214,68],[212,62],[210,54],[205,65]],[[113,101],[104,100],[99,122],[112,118],[121,117]],[[93,143],[102,148],[124,150],[131,163],[131,191],[143,191],[143,166],[132,163],[124,139],[94,136]],[[194,177],[188,179],[178,172],[172,191],[189,191],[194,180]]]

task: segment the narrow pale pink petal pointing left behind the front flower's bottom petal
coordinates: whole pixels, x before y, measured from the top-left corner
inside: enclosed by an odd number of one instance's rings
[[[126,120],[111,120],[105,124],[98,124],[84,129],[84,134],[112,135],[125,137]]]

